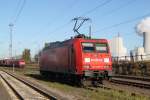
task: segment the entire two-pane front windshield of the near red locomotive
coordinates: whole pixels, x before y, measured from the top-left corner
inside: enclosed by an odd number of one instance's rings
[[[82,43],[84,52],[108,53],[107,43]]]

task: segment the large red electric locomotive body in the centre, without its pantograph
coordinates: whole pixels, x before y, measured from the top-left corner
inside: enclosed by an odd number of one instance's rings
[[[87,81],[101,83],[112,74],[108,42],[79,35],[63,42],[49,43],[40,55],[40,72],[82,85]]]

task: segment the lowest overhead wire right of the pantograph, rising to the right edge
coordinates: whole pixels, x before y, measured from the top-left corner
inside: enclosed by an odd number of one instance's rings
[[[138,16],[138,17],[136,17],[136,18],[132,18],[132,19],[129,19],[129,20],[126,20],[126,21],[117,23],[117,24],[113,24],[113,25],[108,26],[108,27],[101,28],[100,30],[95,31],[95,32],[93,32],[93,33],[97,33],[97,32],[103,31],[103,30],[112,29],[112,28],[118,27],[118,26],[123,25],[123,24],[131,23],[131,22],[134,22],[134,21],[136,21],[136,20],[139,20],[139,19],[142,19],[142,18],[144,18],[144,17],[147,17],[147,16],[149,16],[149,15],[150,15],[150,12],[147,13],[147,14],[145,14],[145,15],[143,15],[143,16]]]

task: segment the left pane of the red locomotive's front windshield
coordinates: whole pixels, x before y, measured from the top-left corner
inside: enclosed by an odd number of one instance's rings
[[[94,44],[93,43],[82,43],[84,52],[94,52]]]

